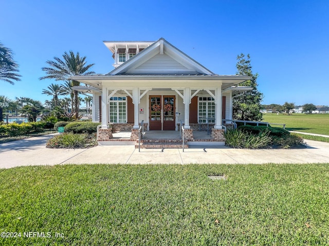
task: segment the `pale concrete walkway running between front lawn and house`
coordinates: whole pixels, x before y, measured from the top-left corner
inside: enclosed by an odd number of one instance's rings
[[[0,169],[68,163],[329,163],[329,143],[306,140],[304,149],[242,150],[228,147],[135,149],[134,146],[97,146],[90,149],[47,149],[53,134],[0,145]]]

